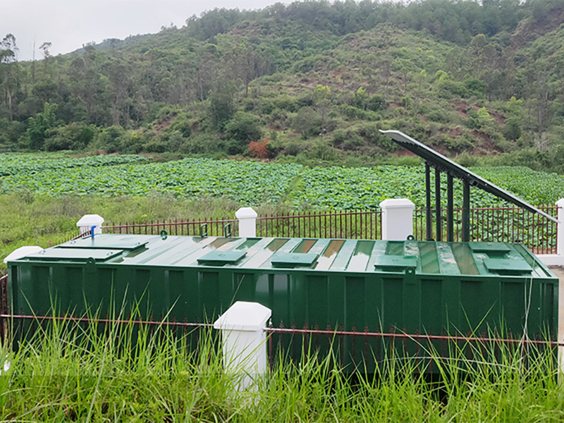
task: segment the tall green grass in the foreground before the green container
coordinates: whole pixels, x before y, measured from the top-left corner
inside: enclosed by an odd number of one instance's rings
[[[39,323],[39,322],[38,322]],[[18,422],[537,422],[564,419],[551,348],[455,344],[450,359],[389,354],[375,374],[350,374],[331,353],[276,356],[257,388],[235,393],[219,334],[59,321],[0,350],[0,420]],[[531,350],[532,349],[532,350]],[[331,351],[332,349],[329,349]],[[477,353],[482,356],[477,358]],[[494,359],[495,358],[495,359]],[[428,370],[428,368],[427,368]]]

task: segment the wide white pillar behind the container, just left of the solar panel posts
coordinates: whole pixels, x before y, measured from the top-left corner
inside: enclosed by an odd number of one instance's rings
[[[394,198],[380,203],[382,209],[382,239],[405,241],[413,235],[415,204],[407,198]]]

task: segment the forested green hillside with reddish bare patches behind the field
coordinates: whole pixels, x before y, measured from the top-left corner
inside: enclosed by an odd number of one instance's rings
[[[0,151],[378,163],[399,129],[465,164],[564,171],[560,0],[304,1],[18,62]]]

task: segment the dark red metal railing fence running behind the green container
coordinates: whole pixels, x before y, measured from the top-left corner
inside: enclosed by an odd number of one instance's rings
[[[558,207],[538,206],[551,216],[557,216]],[[434,219],[435,210],[431,209]],[[413,235],[425,240],[427,233],[425,209],[415,209]],[[281,238],[341,238],[381,239],[382,213],[380,210],[346,212],[293,213],[257,218],[257,236]],[[442,241],[447,240],[447,213],[441,210]],[[537,254],[556,254],[557,224],[544,216],[528,212],[520,207],[474,207],[470,209],[471,240],[500,243],[523,243]],[[433,222],[433,236],[436,237]],[[453,215],[453,240],[462,240],[462,209]],[[106,233],[157,235],[166,231],[169,235],[238,236],[237,219],[197,221],[145,221],[140,223],[109,223],[102,226]]]

